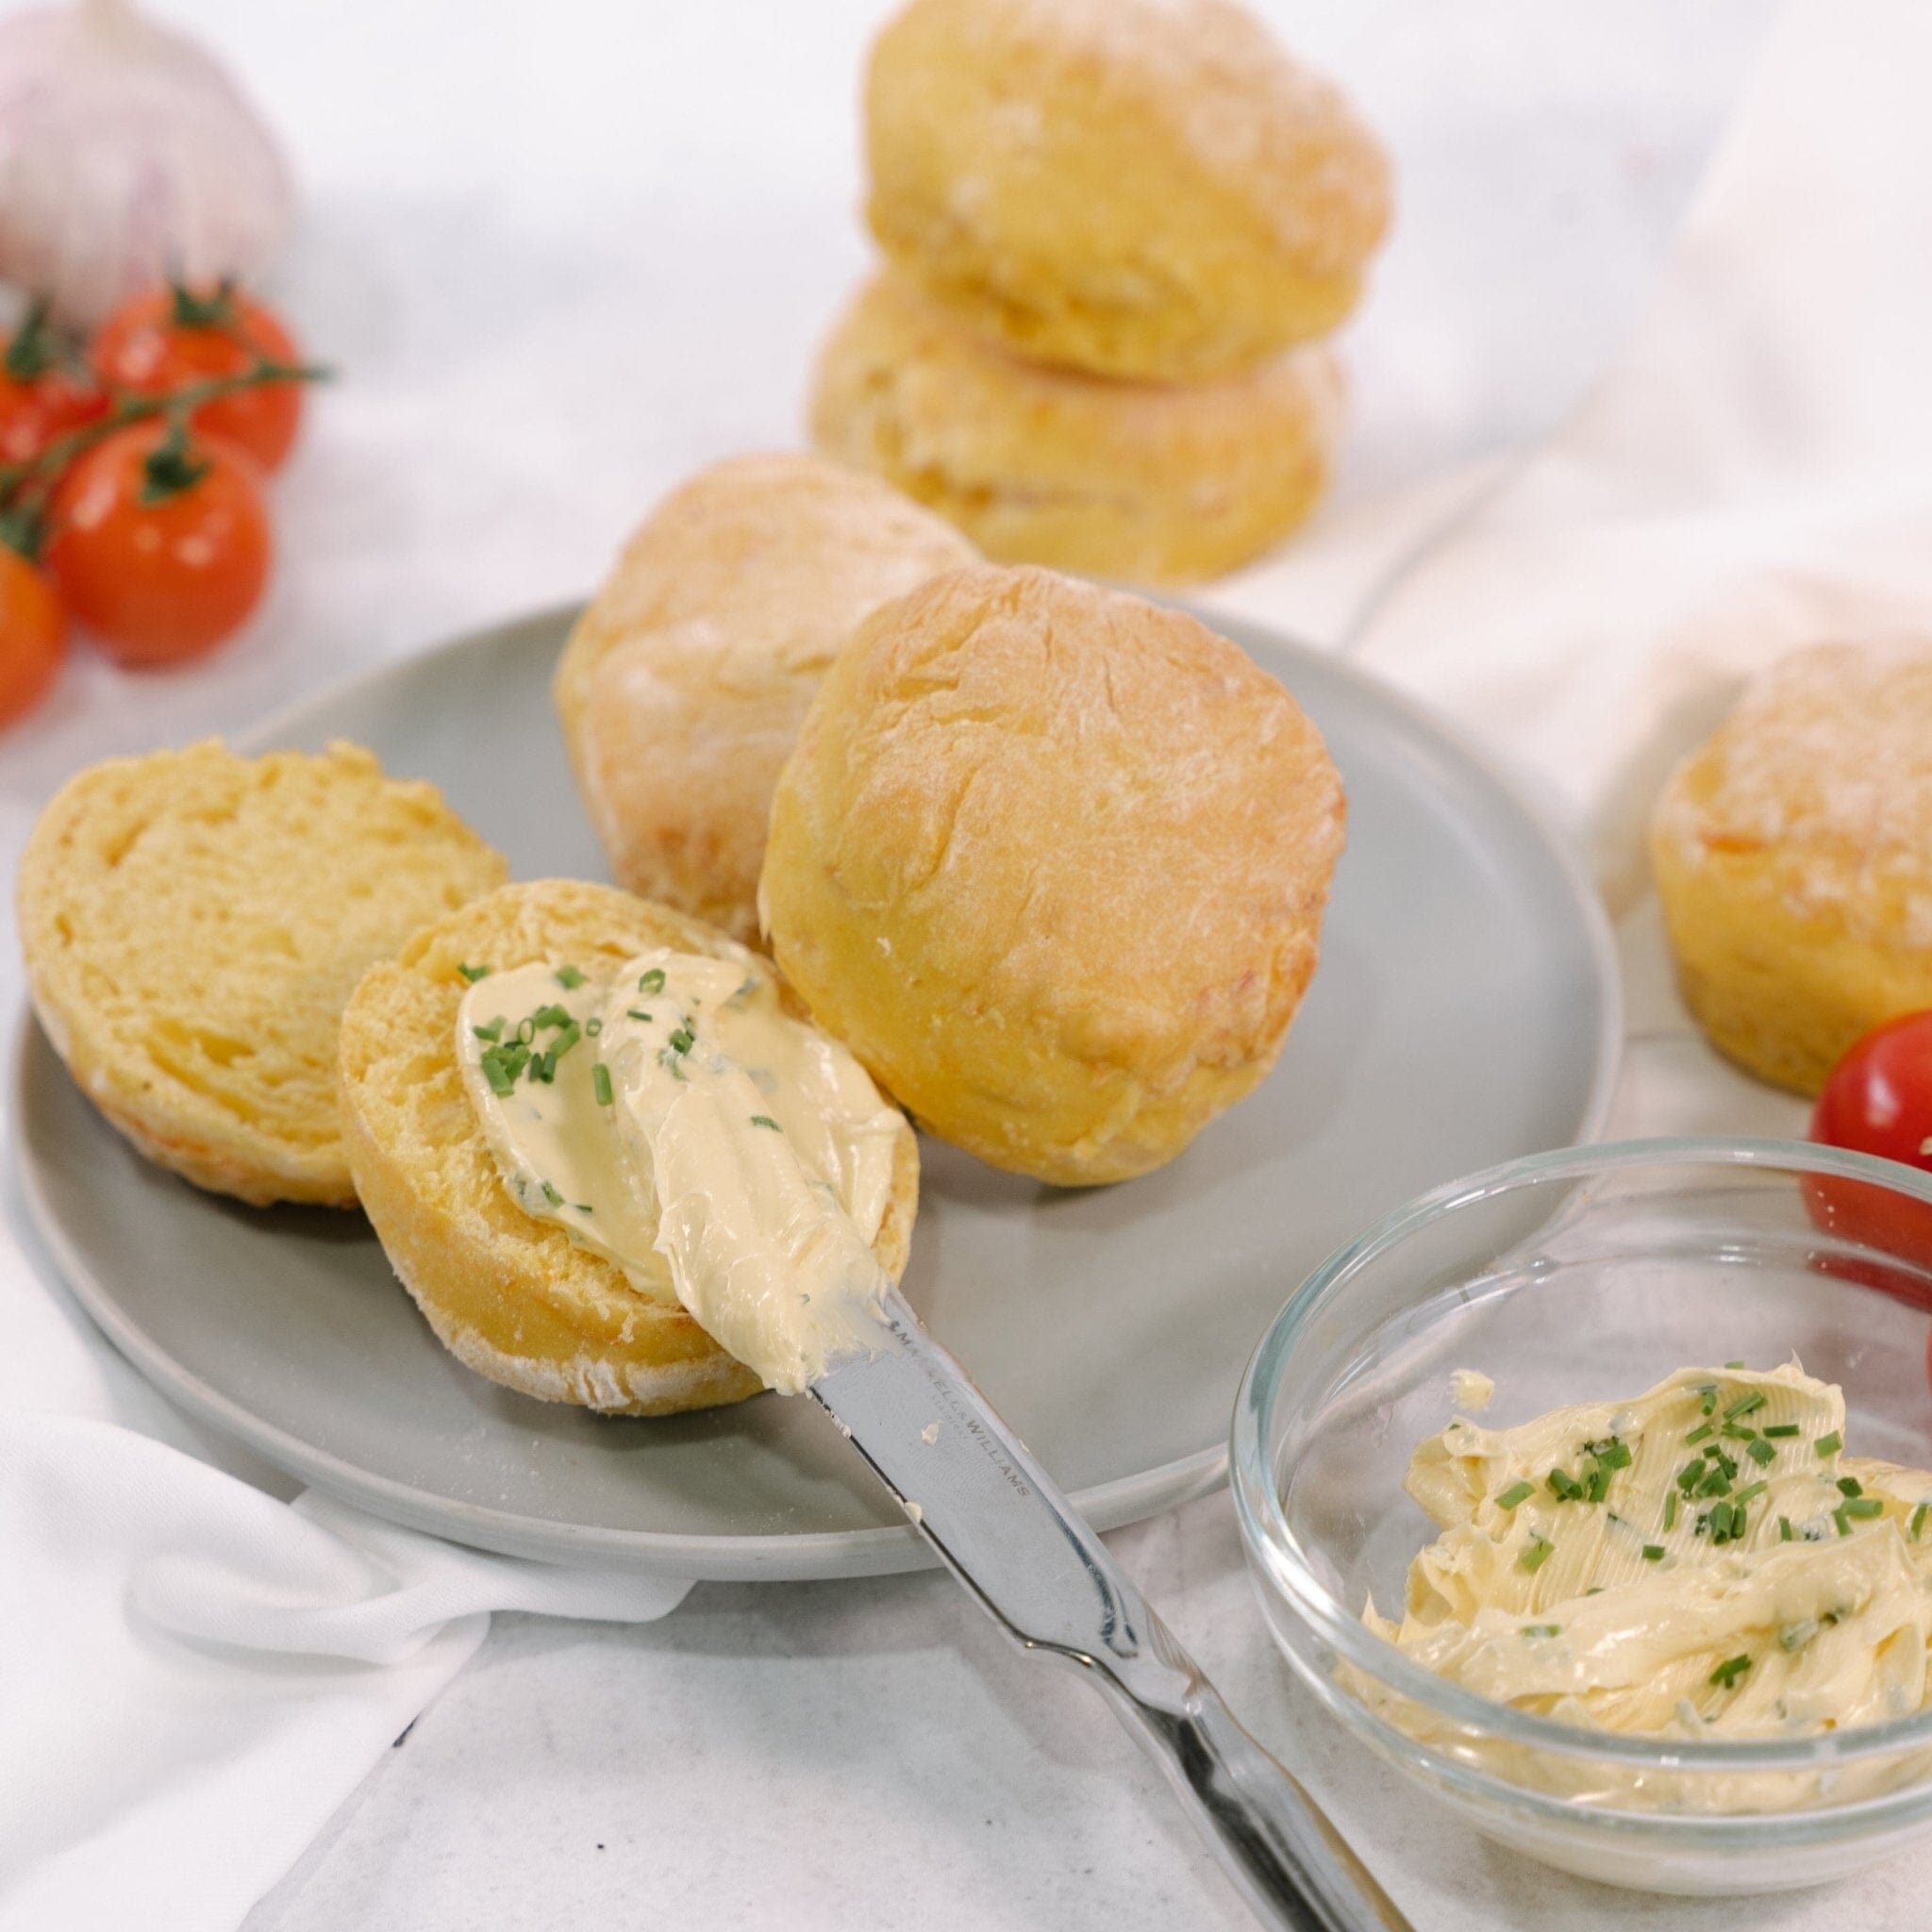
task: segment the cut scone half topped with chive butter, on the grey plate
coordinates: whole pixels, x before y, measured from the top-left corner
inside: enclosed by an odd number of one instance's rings
[[[605,885],[502,887],[371,968],[342,1109],[437,1337],[545,1401],[802,1389],[906,1265],[904,1115],[769,960]]]

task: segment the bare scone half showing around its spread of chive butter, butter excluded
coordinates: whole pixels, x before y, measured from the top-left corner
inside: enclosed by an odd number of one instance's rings
[[[667,1285],[643,1293],[510,1198],[456,1061],[483,966],[568,960],[595,976],[649,947],[744,958],[732,939],[607,885],[506,885],[371,968],[342,1020],[342,1113],[369,1221],[439,1341],[491,1381],[553,1403],[657,1416],[759,1389]],[[469,974],[466,974],[466,970]],[[895,1279],[918,1211],[908,1126],[873,1252]]]

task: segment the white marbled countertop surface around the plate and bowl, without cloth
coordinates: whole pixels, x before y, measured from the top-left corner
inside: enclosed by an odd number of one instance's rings
[[[8,860],[87,759],[245,723],[587,589],[686,471],[798,440],[813,344],[866,263],[854,97],[883,12],[866,0],[168,12],[224,46],[288,131],[307,218],[278,292],[344,375],[282,485],[265,618],[168,680],[75,665],[0,755]],[[1401,226],[1349,342],[1347,502],[1534,439],[1578,400],[1772,8],[1264,12],[1347,79],[1401,168]],[[1435,1820],[1289,1685],[1225,1497],[1113,1542],[1420,1932],[1911,1922],[1924,1861],[1812,1899],[1708,1907],[1513,1861]],[[796,1932],[1248,1924],[1099,1702],[922,1575],[703,1584],[638,1629],[498,1617],[247,1928],[593,1915]]]

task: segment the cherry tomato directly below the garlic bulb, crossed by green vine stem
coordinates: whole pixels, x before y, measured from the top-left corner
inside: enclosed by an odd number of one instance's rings
[[[213,290],[155,288],[124,301],[93,340],[95,373],[108,388],[164,396],[185,383],[242,375],[257,361],[298,361],[272,309],[222,282]],[[195,410],[193,427],[276,469],[301,425],[301,384],[265,383]]]

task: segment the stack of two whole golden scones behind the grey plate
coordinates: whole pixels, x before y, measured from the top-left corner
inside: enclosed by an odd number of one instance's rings
[[[887,269],[811,433],[995,558],[1217,576],[1329,466],[1389,168],[1231,0],[910,0],[866,83]]]

